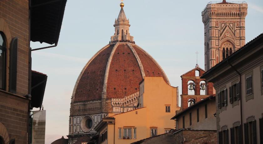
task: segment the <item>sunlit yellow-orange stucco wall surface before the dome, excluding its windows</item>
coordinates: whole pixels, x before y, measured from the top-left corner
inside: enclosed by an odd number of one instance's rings
[[[168,85],[162,77],[145,77],[140,86],[142,84],[144,93],[139,99],[142,103],[140,108],[116,115],[109,113],[109,117],[115,118],[115,125],[108,125],[109,144],[113,144],[113,141],[131,143],[150,137],[151,127],[157,128],[157,135],[165,133],[167,128],[175,127],[175,121],[170,119],[175,115],[175,111],[179,110],[176,106],[177,88]],[[166,105],[170,105],[171,112],[165,112]],[[121,128],[122,135],[123,128],[132,128],[132,139],[119,139],[118,128]],[[136,139],[133,139],[134,128],[137,130]]]

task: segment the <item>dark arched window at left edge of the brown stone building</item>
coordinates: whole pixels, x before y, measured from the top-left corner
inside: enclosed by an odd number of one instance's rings
[[[0,89],[5,89],[6,75],[6,41],[3,32],[0,32]]]

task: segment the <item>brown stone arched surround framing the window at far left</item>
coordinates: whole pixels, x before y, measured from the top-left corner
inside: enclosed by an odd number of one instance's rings
[[[6,40],[6,90],[9,91],[9,48],[11,45],[11,41],[12,41],[12,35],[10,33],[10,29],[8,27],[8,24],[5,22],[5,20],[3,18],[0,18],[0,31],[4,33],[5,36],[5,40]]]

